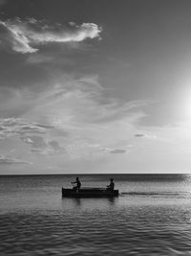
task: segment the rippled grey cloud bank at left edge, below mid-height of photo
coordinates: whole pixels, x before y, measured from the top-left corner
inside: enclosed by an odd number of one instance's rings
[[[60,133],[62,131],[62,133]],[[25,144],[31,146],[31,152],[44,155],[66,152],[59,143],[52,139],[63,137],[68,134],[50,125],[34,122],[27,122],[21,118],[2,118],[0,119],[0,139],[17,137]],[[9,158],[10,159],[10,158]]]

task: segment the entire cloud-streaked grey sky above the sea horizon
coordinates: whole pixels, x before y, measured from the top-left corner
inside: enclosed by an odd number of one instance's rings
[[[0,175],[191,173],[190,0],[0,0]]]

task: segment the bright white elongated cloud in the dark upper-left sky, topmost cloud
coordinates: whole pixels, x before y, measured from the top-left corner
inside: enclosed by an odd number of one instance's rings
[[[17,53],[35,53],[39,45],[47,43],[81,42],[87,38],[99,37],[102,29],[94,23],[77,25],[70,22],[67,26],[50,24],[45,20],[20,18],[0,21],[1,44],[9,45]]]

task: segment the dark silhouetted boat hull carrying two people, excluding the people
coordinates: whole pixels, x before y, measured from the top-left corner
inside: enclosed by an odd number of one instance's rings
[[[116,198],[118,190],[109,190],[105,188],[80,188],[79,191],[74,189],[64,189],[62,187],[62,198]]]

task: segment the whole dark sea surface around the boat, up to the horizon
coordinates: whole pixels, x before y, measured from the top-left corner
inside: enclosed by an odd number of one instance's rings
[[[75,175],[0,176],[0,255],[191,255],[189,175],[114,177],[118,198],[61,198]]]

